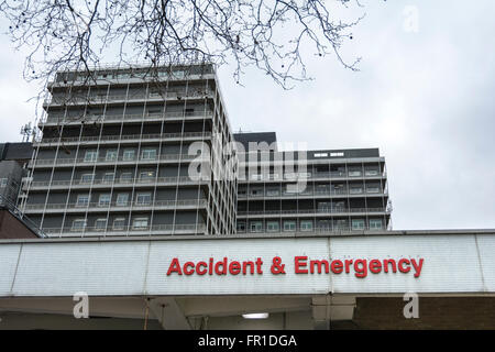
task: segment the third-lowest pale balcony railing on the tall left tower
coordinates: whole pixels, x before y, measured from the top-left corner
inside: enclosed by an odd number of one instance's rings
[[[72,186],[82,186],[82,187],[118,187],[118,186],[147,186],[147,185],[176,185],[179,184],[198,184],[199,180],[191,179],[189,176],[179,177],[152,177],[152,178],[116,178],[116,179],[95,179],[92,182],[86,182],[80,179],[74,180],[53,180],[51,182],[32,182],[31,188],[47,188],[47,187],[72,187]]]

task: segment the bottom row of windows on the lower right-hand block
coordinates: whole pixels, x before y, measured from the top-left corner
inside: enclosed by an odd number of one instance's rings
[[[351,219],[351,230],[364,230],[366,227],[366,221],[364,219]],[[321,229],[331,229],[329,223],[319,223],[319,228]],[[337,220],[336,229],[348,229],[346,220]],[[282,221],[282,231],[292,232],[296,231],[297,221],[296,220],[284,220]],[[370,219],[369,220],[369,229],[370,230],[382,230],[383,229],[383,220],[382,219]],[[249,231],[250,232],[263,232],[263,221],[250,221]],[[314,231],[314,221],[312,220],[300,220],[299,221],[299,230],[300,231]],[[246,224],[245,222],[238,222],[238,232],[245,232]],[[280,232],[280,222],[279,221],[266,221],[266,232]]]

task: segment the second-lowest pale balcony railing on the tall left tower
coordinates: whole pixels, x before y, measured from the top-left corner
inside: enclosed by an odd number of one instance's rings
[[[37,204],[37,205],[26,205],[25,211],[36,211],[37,210],[65,210],[65,209],[73,209],[73,210],[111,210],[111,211],[118,211],[118,210],[128,210],[128,209],[136,209],[136,208],[145,208],[145,209],[175,209],[175,208],[204,208],[207,205],[206,199],[182,199],[182,200],[155,200],[155,201],[148,201],[148,202],[136,202],[134,201],[127,201],[124,202],[72,202],[72,204],[47,204],[46,207],[44,204]]]

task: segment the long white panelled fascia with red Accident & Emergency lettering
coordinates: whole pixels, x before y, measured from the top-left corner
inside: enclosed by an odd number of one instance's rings
[[[0,297],[80,292],[90,296],[491,295],[495,293],[495,233],[0,242]]]

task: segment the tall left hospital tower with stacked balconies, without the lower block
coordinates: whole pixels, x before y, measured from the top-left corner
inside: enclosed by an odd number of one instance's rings
[[[21,205],[48,235],[235,231],[237,185],[215,174],[233,164],[218,147],[232,134],[212,66],[148,74],[59,73],[50,85]],[[195,179],[202,147],[211,177]]]

